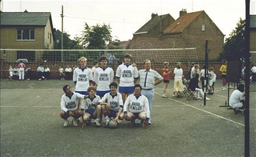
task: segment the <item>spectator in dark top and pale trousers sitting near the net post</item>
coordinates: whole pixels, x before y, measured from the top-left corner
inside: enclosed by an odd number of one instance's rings
[[[199,84],[199,74],[196,73],[195,77],[193,77],[190,82],[188,83],[188,88],[192,91],[197,91],[197,99],[202,99],[201,97],[204,97],[203,90],[198,86]],[[201,97],[200,97],[201,94]],[[206,100],[209,101],[210,99],[206,97]]]

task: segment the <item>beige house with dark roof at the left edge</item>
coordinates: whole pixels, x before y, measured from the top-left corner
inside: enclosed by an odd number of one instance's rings
[[[27,49],[53,49],[54,29],[50,12],[1,12],[1,49],[25,49],[1,51],[1,59],[14,62],[27,58],[36,62],[42,52]]]

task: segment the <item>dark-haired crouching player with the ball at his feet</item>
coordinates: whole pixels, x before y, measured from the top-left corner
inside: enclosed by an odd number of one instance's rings
[[[111,92],[104,94],[104,97],[100,100],[100,105],[102,109],[102,114],[105,122],[105,126],[109,125],[110,118],[115,122],[120,123],[120,120],[124,119],[123,111],[123,100],[122,94],[117,92],[117,83],[112,82],[109,84]]]

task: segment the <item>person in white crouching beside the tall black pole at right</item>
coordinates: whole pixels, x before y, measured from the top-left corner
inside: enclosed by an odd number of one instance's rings
[[[244,84],[238,84],[238,88],[234,90],[229,98],[229,106],[233,108],[235,114],[240,114],[244,109]]]

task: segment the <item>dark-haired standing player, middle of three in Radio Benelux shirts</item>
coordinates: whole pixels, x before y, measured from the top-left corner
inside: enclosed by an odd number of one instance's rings
[[[101,98],[106,94],[107,92],[110,92],[109,90],[109,84],[113,82],[114,80],[114,71],[112,68],[107,67],[107,60],[106,56],[100,57],[100,67],[98,67],[94,71],[94,82],[97,85],[97,95]]]

